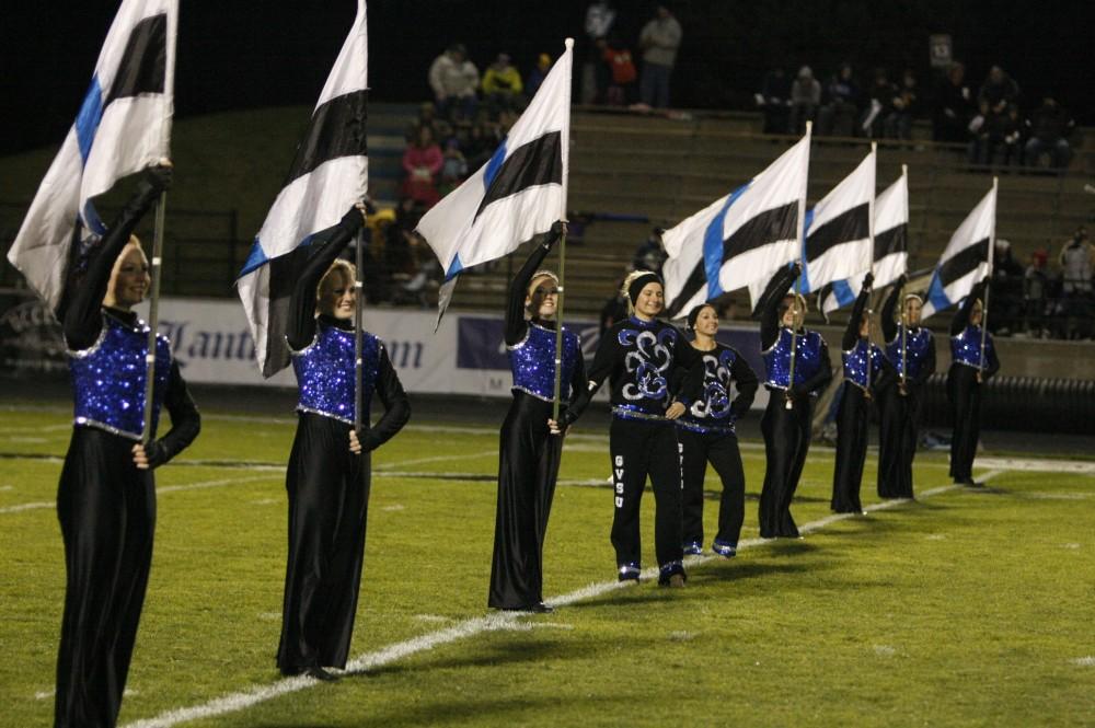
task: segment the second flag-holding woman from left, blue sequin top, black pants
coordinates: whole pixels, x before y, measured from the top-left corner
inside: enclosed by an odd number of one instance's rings
[[[346,666],[365,558],[370,453],[411,417],[388,350],[362,332],[361,437],[354,430],[356,271],[335,258],[364,221],[358,204],[326,242],[312,243],[322,246],[297,280],[286,327],[299,400],[286,472],[289,553],[277,666],[281,674],[316,680],[335,680],[324,668]],[[373,393],[385,412],[370,428]]]

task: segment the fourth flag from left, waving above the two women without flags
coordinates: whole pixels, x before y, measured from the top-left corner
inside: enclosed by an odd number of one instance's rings
[[[809,157],[807,134],[750,182],[661,235],[670,317],[745,286],[756,304],[768,279],[798,257]]]

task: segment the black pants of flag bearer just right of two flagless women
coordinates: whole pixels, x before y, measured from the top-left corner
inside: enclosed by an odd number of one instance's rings
[[[787,409],[783,390],[769,390],[768,408],[760,420],[768,461],[760,494],[762,539],[798,538],[798,527],[791,517],[791,501],[810,448],[814,402],[808,396],[795,397],[792,402],[794,406]]]

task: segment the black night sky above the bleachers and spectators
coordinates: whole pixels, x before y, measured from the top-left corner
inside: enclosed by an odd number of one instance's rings
[[[117,0],[8,3],[0,27],[0,153],[56,143],[71,125]],[[508,50],[522,70],[541,50],[580,37],[588,1],[373,0],[370,85],[378,101],[428,97],[426,69],[462,41],[482,68]],[[616,2],[633,41],[655,3]],[[16,5],[12,8],[12,5]],[[874,66],[927,81],[927,35],[954,36],[976,92],[990,65],[1018,81],[1024,105],[1051,93],[1095,125],[1090,2],[1016,0],[679,0],[684,26],[677,105],[748,108],[766,68],[808,62],[826,77],[843,59],[864,81]],[[65,10],[71,8],[70,10]],[[311,105],[349,28],[354,0],[182,0],[176,69],[180,117],[230,108]],[[1035,10],[1035,12],[1031,12]]]

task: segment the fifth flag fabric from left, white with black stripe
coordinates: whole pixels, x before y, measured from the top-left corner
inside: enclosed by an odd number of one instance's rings
[[[806,213],[803,273],[796,290],[812,293],[871,267],[875,152]]]

